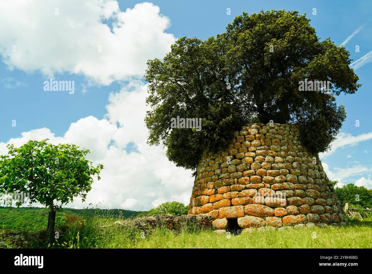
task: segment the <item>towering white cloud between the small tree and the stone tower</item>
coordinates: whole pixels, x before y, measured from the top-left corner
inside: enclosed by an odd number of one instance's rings
[[[64,136],[55,136],[47,128],[23,132],[7,143],[20,146],[31,139],[49,138],[50,142],[74,143],[91,151],[88,158],[101,163],[99,181],[95,181],[86,202],[77,198],[66,207],[83,208],[89,203],[104,208],[149,210],[166,201],[189,203],[193,186],[192,171],[176,167],[161,147],[146,144],[148,130],[144,123],[147,86],[131,82],[110,95],[108,113],[99,120],[93,116],[71,123]],[[117,127],[117,123],[119,127]],[[134,142],[138,152],[126,152]],[[6,144],[0,143],[0,154]],[[35,205],[36,206],[36,205]]]

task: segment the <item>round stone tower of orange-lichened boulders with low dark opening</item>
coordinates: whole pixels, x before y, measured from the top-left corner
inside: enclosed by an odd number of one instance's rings
[[[297,125],[255,123],[202,155],[188,214],[211,215],[215,230],[345,224],[318,155],[298,136]]]

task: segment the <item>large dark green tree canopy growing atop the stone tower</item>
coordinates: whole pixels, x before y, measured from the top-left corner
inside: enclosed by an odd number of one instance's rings
[[[360,86],[349,56],[330,38],[320,41],[296,11],[243,12],[216,37],[180,38],[163,60],[147,63],[148,143],[162,143],[169,160],[195,169],[205,149],[224,148],[241,126],[273,120],[299,123],[303,144],[326,151],[346,118],[334,96]],[[301,81],[329,90],[304,90]],[[202,118],[201,131],[171,128],[177,116]]]

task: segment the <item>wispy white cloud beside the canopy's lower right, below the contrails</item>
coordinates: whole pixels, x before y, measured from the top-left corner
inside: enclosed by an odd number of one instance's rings
[[[345,146],[353,147],[359,142],[368,141],[370,139],[372,139],[372,132],[362,133],[357,136],[353,136],[350,133],[340,132],[337,135],[336,140],[331,143],[330,150],[319,153],[319,157],[321,159],[327,158],[329,155],[335,152],[337,148],[342,148]]]

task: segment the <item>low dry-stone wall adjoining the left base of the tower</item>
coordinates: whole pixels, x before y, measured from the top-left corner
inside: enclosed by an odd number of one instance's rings
[[[150,217],[138,218],[135,226],[142,231],[148,231],[157,227],[166,227],[170,230],[180,230],[183,226],[196,226],[201,229],[212,228],[212,217],[207,214],[200,215],[153,215]]]

